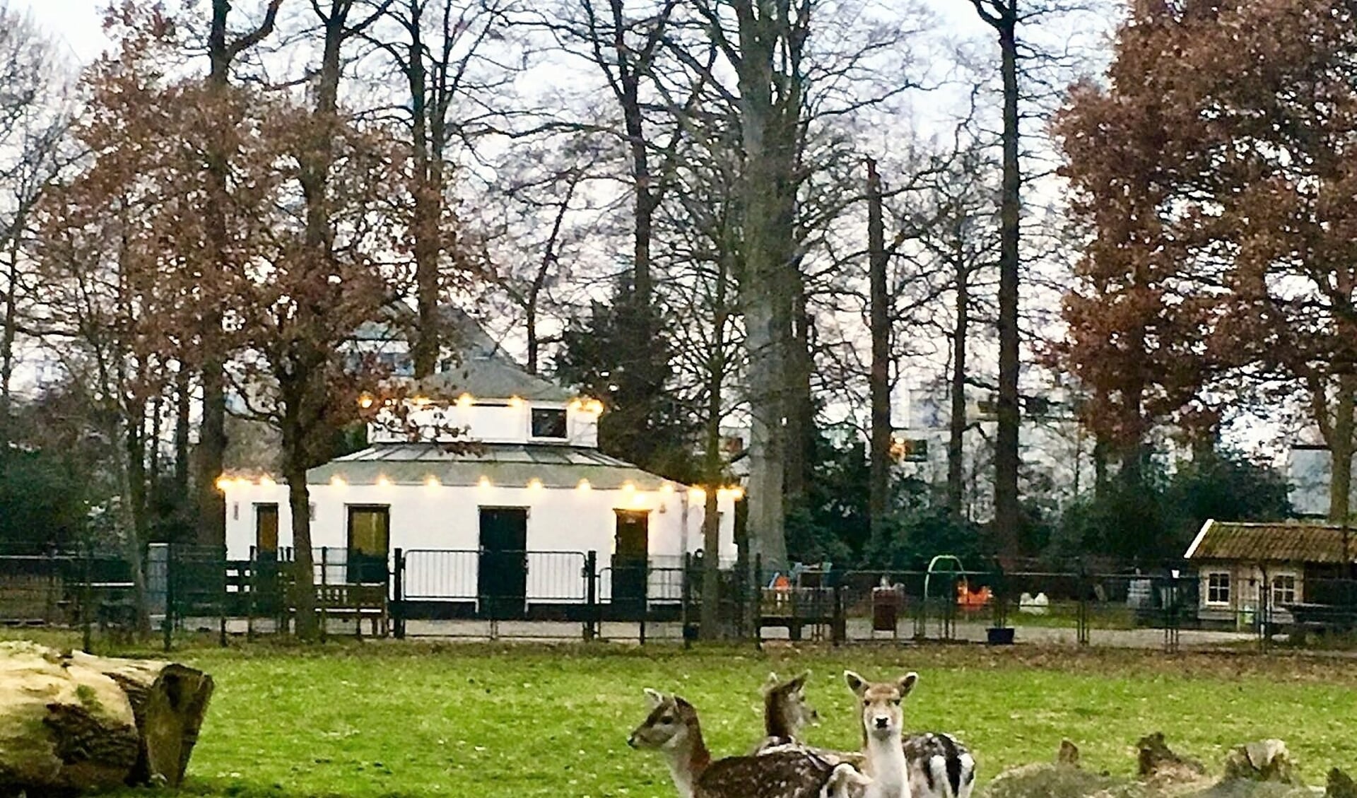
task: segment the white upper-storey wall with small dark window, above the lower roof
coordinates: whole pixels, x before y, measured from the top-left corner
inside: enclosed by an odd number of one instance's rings
[[[559,438],[533,438],[532,433],[532,407],[552,407],[566,410],[566,425],[569,438],[560,441]],[[442,414],[442,422],[434,421],[434,414]],[[588,410],[582,403],[565,403],[565,402],[521,402],[517,406],[510,404],[472,404],[470,407],[461,407],[453,404],[452,407],[429,407],[423,410],[415,410],[410,414],[410,421],[415,423],[423,423],[430,428],[465,428],[470,430],[470,438],[476,441],[483,441],[487,444],[527,444],[527,442],[569,442],[573,446],[589,446],[594,448],[598,445],[598,414]],[[437,438],[448,438],[451,436],[442,434],[436,436]],[[370,442],[406,442],[408,438],[398,430],[384,428],[383,425],[369,425],[368,440]],[[465,440],[459,438],[459,440]]]

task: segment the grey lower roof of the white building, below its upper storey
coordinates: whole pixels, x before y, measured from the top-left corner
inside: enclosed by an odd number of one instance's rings
[[[478,484],[484,476],[499,487],[525,487],[532,479],[540,479],[543,487],[575,487],[588,479],[600,490],[617,490],[628,482],[639,490],[657,490],[669,482],[597,449],[541,444],[483,444],[463,453],[440,444],[377,445],[307,471],[311,484],[335,476],[350,484],[376,484],[383,476],[395,484],[423,484],[433,476],[446,486]]]

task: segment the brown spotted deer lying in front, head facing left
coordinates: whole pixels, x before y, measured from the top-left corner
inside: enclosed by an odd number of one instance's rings
[[[646,689],[646,698],[650,714],[627,745],[665,757],[678,798],[866,798],[866,776],[809,750],[788,748],[712,760],[692,704],[653,689]]]

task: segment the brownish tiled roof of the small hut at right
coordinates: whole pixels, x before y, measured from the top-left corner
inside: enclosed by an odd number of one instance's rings
[[[1346,559],[1357,562],[1357,529],[1349,529]],[[1187,547],[1187,559],[1342,563],[1342,527],[1209,520]]]

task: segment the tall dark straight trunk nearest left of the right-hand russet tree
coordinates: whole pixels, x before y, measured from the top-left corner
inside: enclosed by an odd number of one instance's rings
[[[1018,166],[1018,7],[1006,0],[999,18],[1003,77],[1003,190],[999,224],[999,423],[995,433],[995,537],[1006,565],[1018,558],[1018,236],[1022,175]]]

